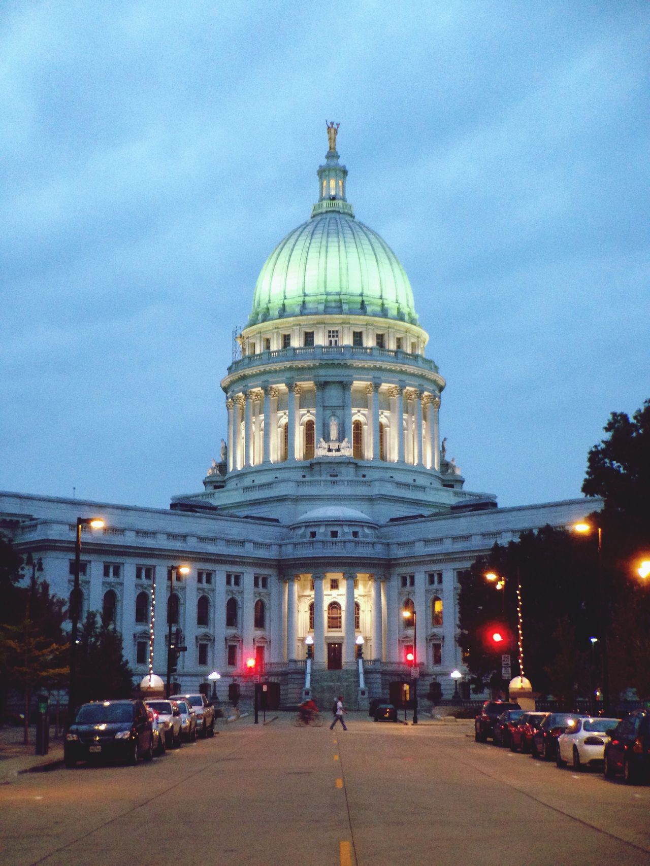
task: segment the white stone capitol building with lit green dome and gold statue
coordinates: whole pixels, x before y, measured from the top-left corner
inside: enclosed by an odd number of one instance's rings
[[[449,697],[452,671],[466,673],[459,574],[496,541],[594,508],[582,498],[500,508],[465,488],[439,427],[445,378],[426,355],[413,289],[354,215],[336,132],[328,126],[309,219],[260,271],[221,382],[227,431],[203,481],[169,509],[0,494],[0,527],[65,598],[77,518],[105,521],[81,537],[81,619],[101,611],[114,622],[138,680],[152,634],[153,672],[165,678],[167,606],[187,648],[174,674],[183,690],[218,672],[219,697],[238,682],[245,699],[255,659],[255,675],[295,702],[309,648],[309,688],[325,707],[339,691],[353,708],[387,697],[410,678],[411,654],[419,695],[439,682]],[[191,571],[169,599],[179,564]]]

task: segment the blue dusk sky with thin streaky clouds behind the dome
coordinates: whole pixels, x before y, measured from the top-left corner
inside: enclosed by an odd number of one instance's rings
[[[580,496],[650,397],[648,45],[645,0],[5,0],[0,488],[202,489],[232,329],[336,120],[465,488]]]

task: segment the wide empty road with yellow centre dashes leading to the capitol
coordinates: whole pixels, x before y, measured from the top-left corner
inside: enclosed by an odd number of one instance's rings
[[[650,785],[480,745],[467,723],[250,719],[138,766],[0,785],[3,866],[650,864]]]

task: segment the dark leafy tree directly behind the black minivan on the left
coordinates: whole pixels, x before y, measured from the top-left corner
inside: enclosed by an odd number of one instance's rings
[[[90,611],[79,634],[77,702],[127,698],[132,688],[133,671],[123,656],[120,633]]]

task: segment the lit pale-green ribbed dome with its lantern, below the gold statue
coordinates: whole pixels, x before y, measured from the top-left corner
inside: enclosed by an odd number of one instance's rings
[[[313,313],[387,316],[417,323],[411,283],[393,250],[354,219],[348,171],[335,149],[318,169],[311,219],[289,232],[264,263],[249,324]]]

